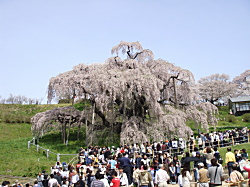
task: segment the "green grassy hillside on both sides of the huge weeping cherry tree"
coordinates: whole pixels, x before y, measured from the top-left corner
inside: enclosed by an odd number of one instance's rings
[[[28,149],[27,142],[32,137],[30,118],[38,112],[53,109],[55,107],[63,107],[68,104],[60,105],[3,105],[0,104],[0,175],[13,176],[31,176],[34,177],[42,170],[49,171],[49,168],[55,164],[56,156],[51,155],[46,158],[43,150],[36,151],[36,147],[31,146]],[[79,107],[79,105],[76,105]],[[236,122],[228,122],[226,107],[220,108],[217,129],[231,129],[235,127],[250,127],[250,123],[242,122],[241,117],[237,117]],[[225,120],[224,120],[225,118]],[[192,128],[192,123],[190,126]],[[211,127],[213,129],[213,127]],[[39,145],[50,149],[55,153],[75,154],[80,146],[85,146],[84,129],[82,130],[82,138],[76,140],[76,131],[72,129],[70,134],[69,145],[66,147],[61,143],[60,134],[58,132],[50,132],[42,139]],[[241,146],[241,145],[239,145]],[[246,147],[245,147],[246,146]],[[237,146],[235,146],[236,148]],[[233,148],[233,149],[235,149]],[[242,147],[243,148],[243,147]],[[244,148],[249,149],[250,144],[245,144]],[[241,149],[241,148],[239,148]],[[222,152],[224,148],[221,149]],[[224,152],[222,153],[224,155]],[[62,157],[61,161],[68,162],[72,156]]]

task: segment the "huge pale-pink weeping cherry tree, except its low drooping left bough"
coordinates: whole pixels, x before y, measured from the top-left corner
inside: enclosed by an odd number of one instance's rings
[[[71,92],[72,97],[90,101],[92,113],[85,116],[91,121],[86,126],[90,144],[97,137],[94,135],[104,131],[107,138],[120,134],[121,144],[131,144],[187,138],[192,134],[188,120],[204,130],[217,123],[217,108],[197,102],[190,71],[155,60],[153,52],[143,49],[139,42],[122,41],[111,53],[114,56],[105,63],[79,64],[51,78],[48,86],[48,100]]]

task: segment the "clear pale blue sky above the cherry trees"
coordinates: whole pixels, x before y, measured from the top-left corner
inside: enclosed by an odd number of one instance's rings
[[[44,98],[51,77],[104,62],[121,40],[234,78],[250,68],[249,0],[0,0],[0,95]]]

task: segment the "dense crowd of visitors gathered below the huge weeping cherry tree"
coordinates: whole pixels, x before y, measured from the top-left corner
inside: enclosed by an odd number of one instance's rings
[[[25,187],[189,187],[192,181],[200,187],[222,186],[222,181],[227,186],[248,186],[247,150],[232,152],[231,145],[249,142],[249,132],[243,128],[200,133],[188,141],[179,138],[117,148],[81,147],[76,165],[58,161],[48,173],[39,173],[34,184]],[[222,160],[218,147],[224,146],[228,152]],[[223,179],[225,176],[227,179]],[[4,181],[2,186],[10,184]],[[12,186],[23,187],[18,183]]]

